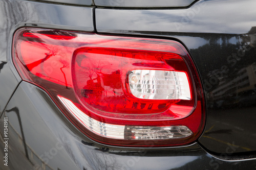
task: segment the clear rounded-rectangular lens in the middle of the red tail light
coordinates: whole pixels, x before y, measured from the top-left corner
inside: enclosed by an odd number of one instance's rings
[[[139,99],[191,99],[185,72],[133,70],[129,74],[129,85],[132,94]]]

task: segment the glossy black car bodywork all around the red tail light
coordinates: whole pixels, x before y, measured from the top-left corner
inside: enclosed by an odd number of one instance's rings
[[[152,9],[153,5],[122,9],[131,6],[111,5],[111,1],[107,5],[94,1],[96,6],[91,1],[75,1],[72,6],[67,5],[70,1],[49,2],[53,3],[0,1],[2,158],[4,117],[9,122],[9,163],[2,162],[1,169],[256,168],[255,1],[198,1],[182,9]],[[18,76],[11,59],[12,38],[22,27],[181,42],[204,86],[204,133],[195,143],[167,148],[113,147],[92,141],[69,122],[46,92]]]

